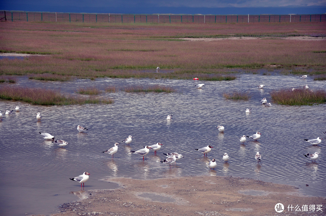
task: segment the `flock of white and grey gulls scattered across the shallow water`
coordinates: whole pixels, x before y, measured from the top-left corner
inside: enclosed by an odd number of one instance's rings
[[[157,67],[157,70],[159,70],[159,67]],[[303,75],[303,76],[300,76],[300,78],[306,78],[307,75]],[[198,84],[196,85],[197,88],[202,88],[204,87],[205,85],[204,84]],[[257,88],[263,88],[265,85],[261,84],[261,85],[258,85]],[[309,88],[308,85],[305,85],[304,86],[305,89]],[[292,88],[292,91],[294,91],[295,89]],[[271,103],[268,103],[266,98],[263,98],[262,100],[259,101],[262,105],[265,105],[265,106],[272,106]],[[20,112],[20,107],[19,106],[16,106],[15,108],[16,112]],[[251,113],[252,109],[246,109],[245,110],[245,113]],[[6,110],[6,113],[5,115],[10,115],[12,114],[14,111],[13,110]],[[3,118],[3,114],[1,113],[0,111],[0,119],[2,120]],[[42,119],[42,116],[40,113],[36,113],[36,119],[37,121],[40,121]],[[167,120],[171,120],[172,119],[172,115],[168,115]],[[216,127],[216,129],[218,129],[219,132],[224,132],[225,128],[224,126],[221,126],[221,125],[218,125]],[[88,130],[86,127],[82,127],[80,125],[77,126],[77,130],[79,132],[84,132],[86,130]],[[68,145],[69,143],[64,141],[64,140],[54,140],[54,136],[52,136],[51,134],[49,133],[41,133],[39,132],[44,140],[53,140],[52,143],[56,144],[58,147],[65,147],[66,145]],[[324,132],[326,134],[326,131]],[[251,136],[246,136],[246,135],[243,135],[242,137],[240,137],[240,143],[243,144],[244,142],[246,142],[246,138],[251,138],[253,141],[257,141],[259,140],[259,138],[261,137],[261,133],[259,131],[257,131],[255,134],[251,135]],[[123,140],[122,142],[124,142],[126,145],[129,145],[132,141],[132,136],[129,135],[125,140]],[[304,139],[306,142],[309,142],[310,144],[312,145],[318,145],[321,143],[321,140],[322,138],[318,137],[317,139]],[[118,151],[118,145],[120,143],[116,142],[114,143],[114,146],[106,151],[103,151],[102,153],[107,153],[109,155],[111,155],[111,157],[113,158],[113,155],[115,153],[117,153]],[[162,144],[160,142],[157,142],[156,144],[154,145],[147,145],[147,146],[144,146],[144,148],[142,149],[139,149],[137,151],[130,151],[131,153],[134,153],[134,154],[138,154],[138,155],[141,155],[143,156],[143,160],[144,160],[144,156],[147,155],[149,152],[150,152],[150,149],[154,150],[154,155],[156,155],[156,151],[158,151],[159,149],[161,149],[161,146]],[[211,151],[213,147],[211,145],[208,145],[208,146],[205,146],[205,147],[202,147],[202,148],[198,148],[198,149],[195,149],[196,151],[204,154],[204,157],[205,157],[205,154],[206,154],[206,157],[207,157],[207,153],[209,153]],[[178,154],[176,152],[173,152],[173,153],[168,153],[168,154],[165,154],[163,153],[164,155],[167,156],[166,159],[160,161],[161,163],[164,163],[164,164],[168,164],[170,165],[170,168],[171,168],[171,165],[175,164],[176,163],[176,160],[179,160],[180,158],[184,158],[183,155],[181,154]],[[318,152],[315,152],[314,154],[304,154],[305,157],[311,159],[312,161],[315,161],[316,162],[316,159],[318,159],[319,157],[319,153]],[[260,155],[259,152],[256,153],[255,155],[255,159],[257,161],[257,163],[259,163],[261,160],[262,160],[262,156]],[[229,161],[229,155],[227,153],[225,153],[223,155],[223,160],[225,163],[228,163]],[[216,164],[216,160],[215,158],[212,159],[212,161],[209,161],[209,164],[208,164],[208,167],[210,169],[215,169],[215,167],[217,166]],[[90,173],[88,172],[84,172],[82,175],[79,175],[75,178],[69,178],[70,180],[73,180],[73,181],[77,181],[79,183],[81,183],[81,188],[82,188],[82,185],[84,185],[84,183],[89,179],[89,175]]]

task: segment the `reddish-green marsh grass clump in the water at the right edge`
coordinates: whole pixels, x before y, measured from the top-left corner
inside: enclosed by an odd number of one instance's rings
[[[309,89],[291,89],[274,91],[271,93],[273,101],[282,105],[302,106],[326,103],[326,91]]]

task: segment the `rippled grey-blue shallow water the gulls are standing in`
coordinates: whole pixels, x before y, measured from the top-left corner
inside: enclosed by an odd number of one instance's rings
[[[205,87],[194,86],[204,83]],[[132,177],[155,179],[169,176],[217,175],[240,176],[267,182],[286,183],[302,188],[313,196],[326,196],[326,166],[323,155],[326,143],[326,105],[284,106],[274,104],[265,107],[259,100],[279,88],[325,89],[325,81],[313,81],[311,77],[278,75],[238,75],[233,81],[194,81],[166,79],[111,79],[74,80],[71,82],[46,82],[29,80],[23,76],[16,84],[33,88],[60,89],[73,94],[76,88],[96,86],[104,90],[108,86],[117,89],[135,85],[163,85],[172,87],[177,93],[136,94],[117,91],[103,93],[114,99],[113,104],[38,106],[15,101],[0,101],[0,111],[20,112],[4,115],[0,121],[0,168],[3,195],[0,198],[4,215],[50,214],[56,206],[78,198],[80,184],[70,181],[84,171],[90,179],[85,190],[114,188],[115,185],[100,181],[110,177]],[[256,86],[265,84],[263,89]],[[248,101],[226,100],[223,93],[248,91]],[[252,108],[251,114],[245,114]],[[36,113],[42,120],[37,122]],[[173,119],[166,116],[172,114]],[[87,126],[84,133],[77,125]],[[225,127],[218,132],[217,125]],[[56,139],[69,142],[64,148],[45,141],[40,132],[51,133]],[[262,133],[259,142],[241,145],[242,135]],[[122,140],[128,135],[133,139],[130,146]],[[321,137],[318,146],[303,139]],[[118,152],[114,159],[101,153],[115,142]],[[163,144],[154,155],[151,151],[142,156],[130,153],[156,142]],[[214,148],[208,157],[195,151],[211,145]],[[254,156],[259,151],[261,164]],[[303,154],[319,152],[319,159],[311,162]],[[185,158],[177,161],[171,169],[160,163],[163,153],[178,152]],[[229,163],[222,160],[223,154],[230,156]],[[216,159],[217,167],[210,170],[208,160]],[[309,186],[306,187],[306,184]],[[17,208],[17,203],[20,208]]]

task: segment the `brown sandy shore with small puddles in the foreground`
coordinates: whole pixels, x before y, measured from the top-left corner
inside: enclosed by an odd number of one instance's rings
[[[299,188],[238,177],[188,176],[156,180],[106,179],[120,185],[88,190],[59,206],[54,216],[72,215],[324,215],[325,197],[304,196]],[[274,209],[282,203],[285,210]],[[323,211],[288,206],[322,205]]]

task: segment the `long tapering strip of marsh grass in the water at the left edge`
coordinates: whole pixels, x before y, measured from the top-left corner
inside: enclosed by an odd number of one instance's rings
[[[111,99],[96,97],[73,97],[64,96],[59,90],[49,90],[42,88],[24,88],[24,87],[0,87],[1,100],[24,101],[37,105],[73,105],[73,104],[99,104],[113,103]]]

